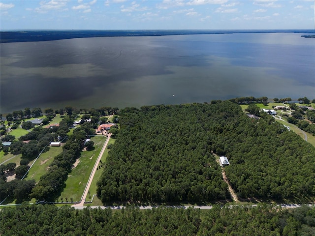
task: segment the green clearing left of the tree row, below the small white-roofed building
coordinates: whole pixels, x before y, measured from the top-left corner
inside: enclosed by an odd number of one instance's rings
[[[55,156],[60,154],[63,151],[63,147],[50,147],[48,151],[43,152],[35,164],[29,171],[28,176],[25,178],[26,180],[34,179],[36,183],[39,181],[39,178],[46,174],[47,168],[53,162]]]

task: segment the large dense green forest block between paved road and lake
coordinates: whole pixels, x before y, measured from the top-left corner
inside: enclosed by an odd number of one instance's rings
[[[120,111],[117,140],[97,195],[109,201],[229,199],[212,152],[227,156],[239,197],[315,196],[315,148],[262,113],[248,118],[230,101]]]

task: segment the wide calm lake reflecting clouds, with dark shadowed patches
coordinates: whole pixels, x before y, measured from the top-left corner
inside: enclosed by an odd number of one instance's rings
[[[315,39],[299,33],[77,38],[1,44],[1,113],[240,96],[315,98]]]

